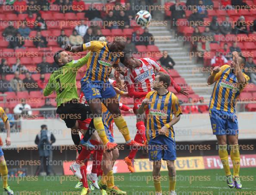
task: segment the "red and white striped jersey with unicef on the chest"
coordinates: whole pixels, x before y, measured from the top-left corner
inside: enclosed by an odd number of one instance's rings
[[[125,73],[125,82],[127,85],[134,85],[136,92],[152,91],[153,82],[155,80],[155,71],[162,71],[161,65],[153,58],[141,58],[140,67],[128,68]]]

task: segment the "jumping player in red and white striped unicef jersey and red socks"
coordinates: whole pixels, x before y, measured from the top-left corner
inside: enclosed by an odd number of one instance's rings
[[[138,107],[148,92],[153,91],[153,81],[155,80],[155,72],[165,72],[165,69],[156,62],[153,58],[136,59],[130,53],[125,53],[120,59],[128,69],[125,72],[125,83],[128,88],[128,94],[134,98],[134,113],[137,116],[137,133],[134,138],[136,142],[145,143],[147,141],[145,136],[144,118],[137,113]],[[187,88],[178,86],[171,78],[171,85],[178,93],[188,95]],[[131,172],[134,172],[133,161],[137,153],[137,149],[131,149],[128,157],[125,157],[125,162]]]

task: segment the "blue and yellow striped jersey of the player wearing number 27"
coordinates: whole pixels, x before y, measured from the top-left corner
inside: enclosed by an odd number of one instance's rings
[[[172,121],[172,114],[178,117],[182,114],[178,103],[178,98],[174,93],[168,92],[164,96],[159,96],[157,91],[150,91],[145,97],[150,100],[147,115],[147,139],[153,139],[158,136],[158,130],[165,124]],[[173,127],[165,134],[167,137],[174,138]]]

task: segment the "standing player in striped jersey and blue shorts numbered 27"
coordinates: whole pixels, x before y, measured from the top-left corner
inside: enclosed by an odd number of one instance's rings
[[[150,161],[153,161],[153,181],[156,195],[162,195],[160,184],[161,160],[165,160],[169,170],[169,193],[176,195],[176,159],[175,133],[173,125],[180,120],[182,114],[178,98],[167,88],[170,85],[170,76],[159,72],[153,83],[154,91],[147,93],[138,113],[147,114],[146,136]],[[175,115],[172,118],[173,114]]]

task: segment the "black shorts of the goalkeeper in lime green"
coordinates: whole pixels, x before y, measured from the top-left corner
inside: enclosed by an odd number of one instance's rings
[[[89,105],[81,104],[77,99],[59,105],[56,112],[59,114],[59,118],[65,121],[68,128],[74,127],[76,121],[92,118]]]

